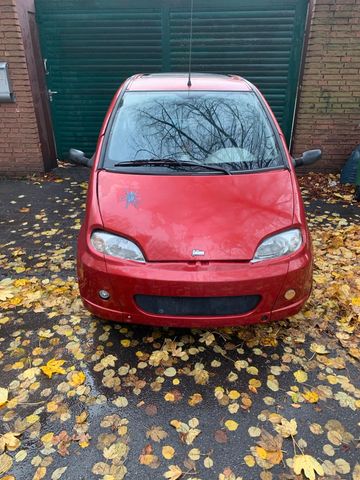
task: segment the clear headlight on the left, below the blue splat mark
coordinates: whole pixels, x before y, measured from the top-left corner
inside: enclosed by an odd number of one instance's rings
[[[91,234],[90,241],[95,250],[105,255],[134,260],[135,262],[145,262],[140,248],[127,238],[97,230]]]

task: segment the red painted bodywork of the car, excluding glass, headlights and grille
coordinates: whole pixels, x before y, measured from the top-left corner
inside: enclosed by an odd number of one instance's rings
[[[238,78],[238,77],[237,77]],[[130,89],[185,90],[183,77],[135,77]],[[123,86],[121,87],[123,88]],[[78,276],[85,306],[122,322],[179,327],[228,326],[279,320],[298,312],[312,283],[312,254],[304,207],[290,155],[279,130],[289,170],[240,175],[132,175],[97,170],[103,136],[121,92],[117,92],[100,132],[90,177],[85,222],[78,242]],[[246,90],[232,77],[198,77],[191,88]],[[136,204],[126,201],[135,193]],[[250,263],[268,235],[301,228],[304,243],[288,257]],[[91,232],[104,229],[135,241],[147,262],[96,252]],[[193,249],[205,251],[194,259]],[[195,261],[196,260],[196,261]],[[106,289],[109,300],[98,292]],[[295,298],[287,301],[286,290]],[[141,311],[134,295],[187,297],[261,296],[247,314],[224,317],[171,317]]]

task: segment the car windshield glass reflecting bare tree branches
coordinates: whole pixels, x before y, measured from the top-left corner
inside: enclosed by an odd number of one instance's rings
[[[126,92],[104,166],[154,159],[233,172],[284,165],[270,121],[252,92]]]

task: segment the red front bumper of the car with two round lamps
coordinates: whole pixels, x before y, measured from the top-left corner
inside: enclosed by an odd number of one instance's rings
[[[297,313],[310,295],[312,257],[303,247],[282,260],[248,262],[164,262],[138,264],[98,255],[79,240],[78,277],[85,307],[119,322],[173,327],[225,327],[280,320]],[[291,300],[285,292],[295,291]],[[99,290],[110,293],[108,300]],[[179,316],[143,311],[136,295],[234,297],[259,295],[251,311],[232,315]]]

